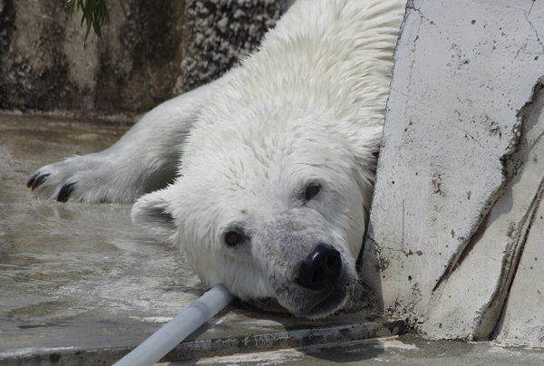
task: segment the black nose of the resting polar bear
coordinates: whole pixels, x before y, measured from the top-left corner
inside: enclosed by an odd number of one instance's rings
[[[342,271],[340,253],[331,246],[320,244],[300,265],[296,283],[312,290],[333,284]]]

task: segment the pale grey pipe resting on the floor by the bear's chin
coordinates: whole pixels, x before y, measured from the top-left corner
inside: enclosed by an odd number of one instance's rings
[[[212,287],[113,366],[153,365],[232,300],[234,296],[221,284]]]

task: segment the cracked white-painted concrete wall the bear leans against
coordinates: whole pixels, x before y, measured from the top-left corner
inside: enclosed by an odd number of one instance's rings
[[[541,1],[407,5],[362,275],[429,336],[544,345],[542,37]]]

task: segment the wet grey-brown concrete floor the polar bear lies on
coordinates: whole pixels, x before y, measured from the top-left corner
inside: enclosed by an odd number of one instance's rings
[[[36,199],[34,169],[105,149],[128,127],[0,115],[0,364],[111,364],[205,289],[170,246],[132,226],[131,205]],[[347,342],[403,322],[309,322],[234,303],[165,360]]]

